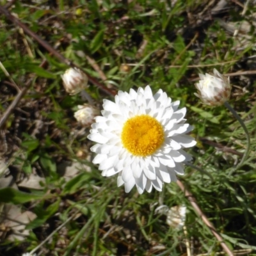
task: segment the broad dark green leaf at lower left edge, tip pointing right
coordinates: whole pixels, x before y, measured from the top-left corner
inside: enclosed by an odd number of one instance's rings
[[[0,189],[0,202],[1,203],[12,203],[12,204],[24,204],[31,200],[42,199],[43,195],[34,195],[25,193],[13,188]]]

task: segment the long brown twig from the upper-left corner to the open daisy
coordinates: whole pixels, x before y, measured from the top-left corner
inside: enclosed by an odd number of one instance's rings
[[[68,65],[70,67],[80,68],[76,64],[72,63],[72,61],[68,60],[62,54],[60,54],[60,52],[56,51],[48,42],[46,42],[45,40],[40,38],[40,36],[36,35],[36,33],[31,31],[31,29],[29,29],[25,24],[20,22],[19,19],[17,19],[10,12],[8,12],[8,10],[6,10],[6,8],[4,8],[3,6],[0,6],[0,12],[3,13],[7,19],[11,20],[13,22],[13,24],[18,26],[19,28],[22,28],[26,34],[28,34],[29,36],[34,38],[34,40],[36,40],[36,42],[38,42],[38,44],[42,45],[48,52],[50,52],[52,55],[54,55],[56,58],[58,58],[62,63],[65,63],[66,65]],[[86,73],[86,72],[84,72],[84,73]],[[115,92],[113,92],[113,90],[106,88],[106,86],[104,86],[104,84],[102,84],[102,83],[99,83],[99,81],[97,81],[97,79],[93,78],[92,76],[90,76],[87,73],[86,73],[86,75],[88,76],[88,80],[91,83],[95,84],[97,87],[99,87],[100,90],[108,93],[109,95],[115,94]],[[90,98],[90,95],[88,95],[88,93],[86,93],[86,94],[87,94],[86,95],[87,98]]]

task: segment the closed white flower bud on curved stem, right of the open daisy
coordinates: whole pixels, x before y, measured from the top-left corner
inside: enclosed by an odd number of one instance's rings
[[[202,102],[209,106],[220,106],[229,100],[231,86],[229,77],[225,77],[214,68],[213,75],[199,74],[200,81],[195,84],[198,93],[195,93]]]

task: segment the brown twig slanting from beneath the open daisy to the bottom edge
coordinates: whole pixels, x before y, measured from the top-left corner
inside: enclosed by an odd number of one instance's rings
[[[220,234],[217,232],[217,230],[214,228],[212,223],[208,220],[208,218],[205,216],[204,212],[200,209],[198,204],[196,203],[195,197],[184,187],[182,182],[180,180],[177,180],[177,184],[179,188],[185,193],[185,196],[188,198],[190,204],[195,209],[195,212],[202,218],[202,221],[204,221],[205,225],[211,230],[212,234],[216,237],[216,239],[220,242],[221,247],[223,250],[227,253],[228,256],[234,256],[234,253],[231,252],[230,248],[228,248],[227,244],[223,241]]]

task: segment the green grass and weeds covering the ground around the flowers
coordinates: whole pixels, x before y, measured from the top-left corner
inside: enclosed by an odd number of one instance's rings
[[[193,136],[198,144],[189,153],[193,164],[200,168],[187,167],[186,175],[180,179],[230,249],[251,249],[247,255],[256,255],[255,75],[230,77],[234,85],[230,104],[243,118],[252,144],[248,160],[235,171],[241,156],[234,152],[243,153],[246,148],[243,129],[224,106],[205,107],[194,95],[195,78],[200,72],[212,72],[214,67],[223,74],[254,69],[254,58],[250,56],[255,55],[255,26],[251,22],[255,6],[250,5],[242,16],[243,8],[233,2],[212,15],[214,6],[208,1],[177,0],[173,6],[171,1],[124,2],[57,1],[49,6],[47,1],[15,1],[11,11],[65,58],[105,86],[111,84],[115,92],[150,84],[154,92],[161,88],[173,100],[180,100],[180,106],[187,108],[189,124],[195,127]],[[32,172],[45,177],[45,183],[40,191],[0,190],[2,203],[20,202],[22,211],[37,215],[29,223],[30,233],[24,241],[9,242],[11,230],[2,235],[0,254],[30,252],[63,223],[63,228],[36,253],[186,255],[186,239],[193,255],[221,252],[220,243],[177,184],[165,184],[161,193],[138,195],[132,189],[126,194],[124,188],[116,188],[116,177],[100,175],[91,161],[93,144],[86,139],[90,129],[83,131],[73,116],[84,99],[81,95],[68,95],[62,86],[60,75],[67,65],[20,32],[3,14],[1,18],[0,61],[20,88],[31,74],[36,77],[4,126],[8,149],[3,148],[1,156],[17,184]],[[247,33],[234,37],[220,20],[248,21],[251,25]],[[106,81],[86,56],[99,65]],[[44,60],[47,67],[40,68]],[[129,71],[122,71],[122,65],[127,65]],[[6,83],[9,79],[3,70],[0,80],[3,115],[16,92]],[[99,108],[102,99],[113,99],[92,83],[86,92]],[[205,140],[234,152],[223,152]],[[58,172],[63,161],[79,161],[90,166],[92,172],[82,167],[79,176],[67,182]],[[25,192],[29,196],[24,196]],[[182,230],[169,227],[166,217],[154,212],[159,202],[168,207],[188,207],[187,236]]]

